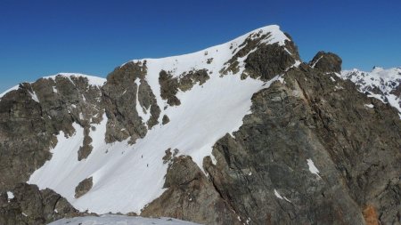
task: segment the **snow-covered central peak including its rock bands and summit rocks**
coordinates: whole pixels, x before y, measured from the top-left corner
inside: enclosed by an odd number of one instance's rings
[[[73,123],[70,138],[60,133],[52,159],[29,183],[55,189],[79,210],[140,213],[164,191],[168,149],[191,157],[203,171],[216,141],[241,127],[252,95],[298,65],[295,45],[275,25],[200,52],[131,60],[111,72],[95,94],[102,92],[101,107],[90,114],[98,123]],[[103,83],[85,77],[89,84]],[[77,197],[83,181],[93,186]]]

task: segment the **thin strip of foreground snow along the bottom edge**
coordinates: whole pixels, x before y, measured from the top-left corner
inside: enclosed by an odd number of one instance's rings
[[[143,218],[139,216],[123,216],[105,214],[102,216],[84,216],[53,221],[48,225],[197,225],[189,221],[179,221],[172,218]]]

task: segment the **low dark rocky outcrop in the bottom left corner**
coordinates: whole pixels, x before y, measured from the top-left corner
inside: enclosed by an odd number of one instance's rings
[[[9,199],[6,192],[0,192],[0,224],[42,225],[61,218],[84,215],[67,202],[64,197],[51,189],[39,190],[36,185],[17,184]]]

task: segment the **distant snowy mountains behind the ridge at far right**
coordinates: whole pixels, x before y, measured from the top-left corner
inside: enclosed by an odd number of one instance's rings
[[[401,94],[395,93],[397,89],[401,90],[401,68],[374,67],[371,72],[354,68],[341,71],[341,76],[355,83],[360,92],[397,108],[401,117]]]

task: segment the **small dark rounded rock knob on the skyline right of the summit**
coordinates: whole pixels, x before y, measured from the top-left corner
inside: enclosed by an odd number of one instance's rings
[[[341,72],[341,58],[331,52],[317,52],[314,59],[309,62],[313,68],[323,72]]]

